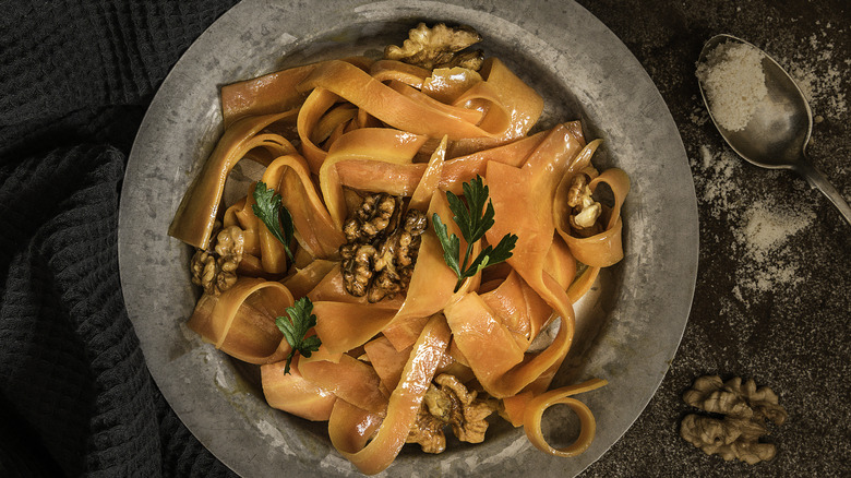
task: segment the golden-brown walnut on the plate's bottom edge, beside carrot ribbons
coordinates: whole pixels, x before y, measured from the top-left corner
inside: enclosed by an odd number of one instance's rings
[[[450,425],[458,440],[481,443],[488,431],[486,419],[495,409],[494,403],[478,398],[456,377],[440,374],[425,392],[407,442],[419,443],[427,453],[440,453],[446,449],[443,427]]]

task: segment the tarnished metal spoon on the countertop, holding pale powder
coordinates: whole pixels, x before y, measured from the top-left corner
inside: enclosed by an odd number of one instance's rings
[[[709,51],[724,41],[738,41],[754,47],[732,35],[716,35],[704,45],[698,62],[705,62]],[[709,117],[718,131],[721,132],[727,144],[739,156],[756,166],[769,169],[791,169],[803,176],[812,187],[817,188],[834,203],[842,217],[851,225],[851,206],[827,181],[825,176],[810,164],[806,157],[806,143],[813,131],[813,112],[810,110],[804,94],[801,93],[789,73],[764,51],[763,72],[768,94],[759,103],[754,116],[743,130],[730,131],[716,121],[712,116],[712,107],[706,99],[704,86],[700,85],[700,96],[704,98]]]

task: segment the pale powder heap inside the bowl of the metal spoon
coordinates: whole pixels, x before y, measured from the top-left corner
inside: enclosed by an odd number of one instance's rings
[[[697,64],[697,79],[721,128],[744,129],[768,94],[762,62],[763,52],[758,49],[726,41],[709,51],[705,63]]]

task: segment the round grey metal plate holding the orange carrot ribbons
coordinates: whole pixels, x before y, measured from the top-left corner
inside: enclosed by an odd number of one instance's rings
[[[218,87],[326,58],[377,53],[419,21],[465,23],[544,96],[544,126],[582,119],[603,138],[598,166],[626,170],[625,259],[585,300],[575,347],[554,385],[599,377],[610,384],[582,395],[597,438],[576,458],[529,445],[499,420],[478,445],[450,441],[442,455],[406,446],[393,476],[572,476],[602,455],[633,423],[680,343],[697,271],[697,202],[676,127],[640,64],[597,19],[573,2],[248,0],[216,21],[163,83],[136,136],[124,179],[119,260],[124,300],[157,385],[187,427],[247,477],[358,471],[311,423],[269,408],[239,366],[184,323],[197,291],[191,250],[166,235],[191,178],[221,134]],[[544,416],[566,444],[566,407]]]

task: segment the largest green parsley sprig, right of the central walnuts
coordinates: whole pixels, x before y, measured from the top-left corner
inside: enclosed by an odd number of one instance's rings
[[[464,253],[463,262],[460,260],[460,239],[454,234],[448,234],[446,225],[441,220],[438,213],[432,215],[434,232],[438,234],[438,239],[443,247],[443,259],[446,261],[446,265],[458,276],[458,282],[455,284],[456,292],[467,277],[472,277],[484,267],[499,264],[511,258],[512,250],[517,243],[517,236],[506,234],[500,239],[496,247],[488,246],[470,262],[472,244],[484,237],[484,232],[493,226],[495,213],[493,211],[493,202],[488,199],[488,187],[484,186],[481,176],[477,175],[476,179],[465,182],[463,188],[467,204],[464,204],[454,193],[446,191],[450,210],[455,214],[453,219],[458,225],[460,234],[467,242],[467,251]],[[486,202],[488,203],[487,207],[484,205]],[[483,213],[482,210],[484,210]]]

